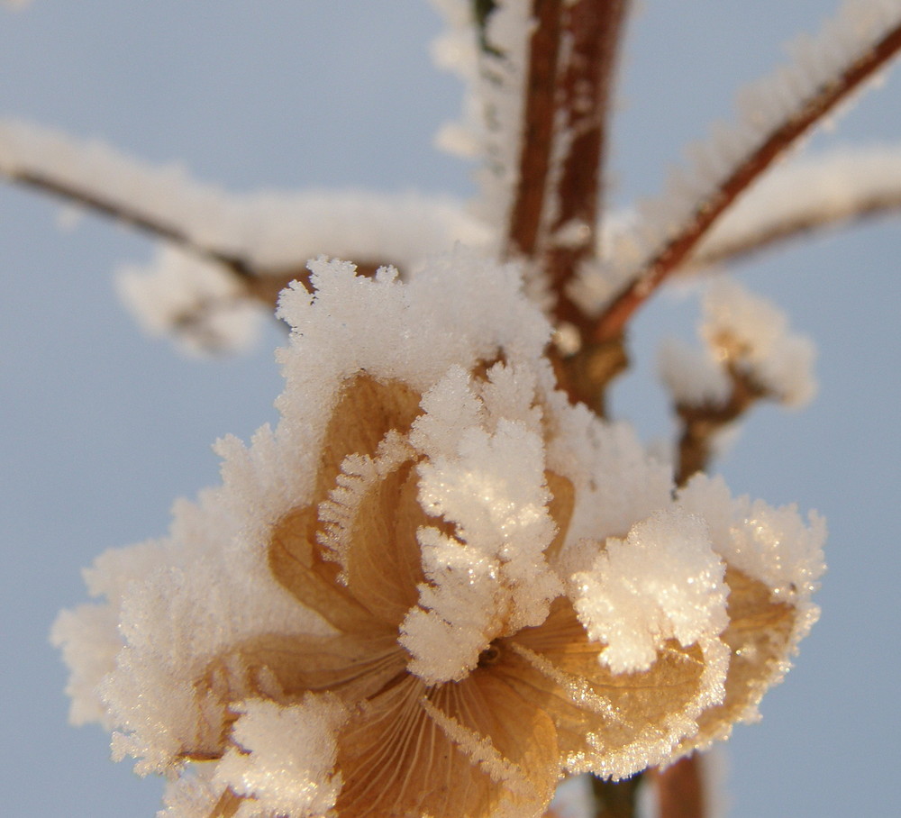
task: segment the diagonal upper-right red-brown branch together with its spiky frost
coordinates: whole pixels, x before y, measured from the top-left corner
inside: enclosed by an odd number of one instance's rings
[[[633,312],[687,259],[733,201],[815,123],[847,101],[901,49],[897,0],[848,0],[815,38],[795,43],[795,60],[740,96],[737,123],[714,130],[692,150],[693,168],[642,209],[637,266],[596,326],[596,337],[623,332]]]

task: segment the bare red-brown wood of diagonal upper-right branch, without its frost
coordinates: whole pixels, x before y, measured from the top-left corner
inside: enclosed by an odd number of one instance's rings
[[[644,265],[642,270],[617,295],[596,324],[599,340],[623,332],[629,319],[660,284],[687,259],[735,198],[760,177],[772,163],[805,135],[833,108],[872,77],[901,50],[901,24],[890,29],[874,47],[852,62],[833,81],[821,86],[815,95],[799,107],[796,114],[766,134],[733,172],[710,195],[696,204],[683,229]]]

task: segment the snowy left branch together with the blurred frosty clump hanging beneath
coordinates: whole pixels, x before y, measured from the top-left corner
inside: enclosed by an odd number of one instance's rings
[[[57,195],[166,242],[149,265],[119,278],[126,305],[153,335],[183,349],[247,347],[292,280],[308,285],[308,259],[352,259],[364,274],[383,264],[416,268],[455,241],[487,242],[460,202],[412,192],[262,191],[234,195],[178,166],[155,167],[99,141],[0,121],[0,177]]]

